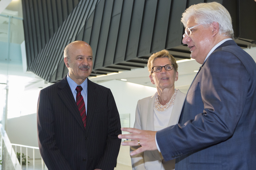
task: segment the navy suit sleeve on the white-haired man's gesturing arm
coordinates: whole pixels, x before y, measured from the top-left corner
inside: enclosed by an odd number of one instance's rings
[[[212,146],[234,134],[245,105],[249,74],[232,52],[217,51],[207,60],[201,70],[201,82],[193,82],[194,91],[188,91],[186,98],[187,104],[194,102],[191,109],[202,102],[202,112],[184,125],[156,133],[165,160]]]

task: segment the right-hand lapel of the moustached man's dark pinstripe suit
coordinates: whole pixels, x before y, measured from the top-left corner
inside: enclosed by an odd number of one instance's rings
[[[96,107],[96,99],[97,99],[97,91],[96,91],[96,85],[92,83],[87,78],[87,117],[86,117],[86,128],[85,132],[88,132],[88,129],[90,128],[91,121],[94,117],[94,110]]]

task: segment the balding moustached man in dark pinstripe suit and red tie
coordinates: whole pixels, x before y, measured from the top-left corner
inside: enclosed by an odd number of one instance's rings
[[[68,75],[40,91],[39,150],[50,170],[113,170],[121,140],[110,89],[91,82],[92,49],[74,41],[64,50]]]

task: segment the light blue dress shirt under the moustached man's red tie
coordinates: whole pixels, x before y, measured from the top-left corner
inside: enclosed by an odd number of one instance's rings
[[[86,115],[87,115],[87,78],[85,79],[85,81],[82,83],[82,84],[76,84],[74,80],[72,80],[70,77],[69,77],[69,73],[67,75],[67,80],[68,80],[68,84],[70,86],[70,89],[72,91],[72,94],[75,98],[75,101],[76,101],[76,87],[77,86],[81,86],[83,88],[83,90],[81,91],[81,95],[83,96],[84,98],[84,102],[85,102],[85,111],[86,111]]]

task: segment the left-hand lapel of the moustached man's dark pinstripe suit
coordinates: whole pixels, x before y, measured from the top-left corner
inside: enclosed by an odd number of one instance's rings
[[[78,123],[82,127],[82,129],[85,130],[78,107],[76,105],[76,102],[75,102],[74,96],[71,92],[68,81],[66,80],[66,77],[60,81],[58,87],[59,87],[58,94],[59,94],[60,98],[63,100],[66,107],[69,109],[70,113],[78,121]]]

